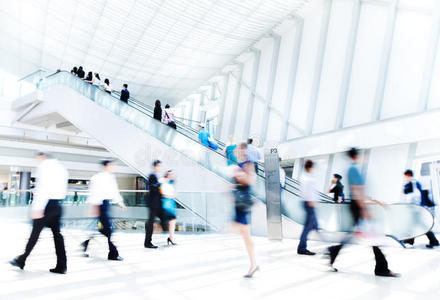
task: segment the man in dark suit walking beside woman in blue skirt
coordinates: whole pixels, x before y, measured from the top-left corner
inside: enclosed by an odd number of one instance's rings
[[[160,224],[165,230],[165,216],[162,208],[162,195],[160,193],[159,187],[159,174],[162,169],[162,162],[160,160],[155,160],[153,162],[153,172],[148,176],[148,208],[149,216],[148,221],[145,224],[145,248],[156,249],[157,246],[153,245],[151,242],[151,236],[153,235],[153,225],[154,219],[158,217],[160,219]]]

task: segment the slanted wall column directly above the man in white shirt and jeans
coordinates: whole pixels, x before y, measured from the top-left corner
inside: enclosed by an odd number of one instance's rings
[[[313,123],[315,121],[316,105],[318,102],[318,92],[321,83],[322,63],[324,61],[325,46],[327,44],[328,24],[330,22],[330,13],[332,9],[332,1],[325,2],[324,14],[322,17],[321,32],[319,34],[318,52],[316,55],[315,72],[312,85],[312,93],[310,95],[310,105],[307,112],[306,132],[308,135],[313,133]]]

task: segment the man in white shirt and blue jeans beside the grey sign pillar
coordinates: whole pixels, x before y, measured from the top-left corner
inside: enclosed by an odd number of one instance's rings
[[[297,253],[301,255],[315,255],[314,252],[307,250],[307,236],[312,230],[318,229],[318,222],[315,215],[316,196],[316,180],[312,175],[313,161],[307,160],[304,164],[305,174],[301,178],[301,199],[304,201],[304,209],[306,212],[306,222],[301,234]]]

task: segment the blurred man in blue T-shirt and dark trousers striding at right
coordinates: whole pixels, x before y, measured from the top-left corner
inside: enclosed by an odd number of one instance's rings
[[[371,197],[365,194],[365,179],[362,176],[360,171],[359,164],[359,150],[356,148],[351,148],[347,155],[350,157],[352,164],[348,169],[348,185],[351,193],[351,202],[350,202],[350,211],[354,220],[354,226],[358,225],[362,219],[371,219],[370,212],[368,211],[368,207],[365,204],[365,201],[370,200],[376,202],[379,205],[383,205],[377,200],[373,200]],[[339,251],[342,247],[347,244],[352,238],[352,235],[348,236],[340,245],[329,247],[329,255],[330,255],[330,266],[337,271],[336,268],[333,267],[333,263],[336,260],[336,257],[339,254]],[[388,262],[385,258],[385,255],[382,253],[378,246],[373,246],[374,257],[376,259],[376,268],[374,273],[376,276],[385,276],[385,277],[398,277],[399,274],[392,272],[388,269]]]

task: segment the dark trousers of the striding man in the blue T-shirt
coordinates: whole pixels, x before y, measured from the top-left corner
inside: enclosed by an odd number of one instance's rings
[[[356,205],[355,202],[351,202],[350,203],[350,210],[354,219],[354,223],[357,224],[360,221],[360,208]],[[340,245],[337,246],[332,246],[329,247],[329,252],[330,252],[330,263],[334,263],[336,260],[336,257],[339,254],[339,251],[341,251],[341,249],[348,243],[350,242],[350,240],[353,238],[352,234],[349,234],[349,236],[342,241],[342,243]],[[376,274],[386,274],[389,273],[390,270],[388,269],[388,262],[387,259],[385,258],[385,255],[382,253],[382,251],[380,250],[380,248],[378,246],[373,246],[373,253],[374,253],[374,258],[376,260],[376,267],[374,269],[374,272]]]

